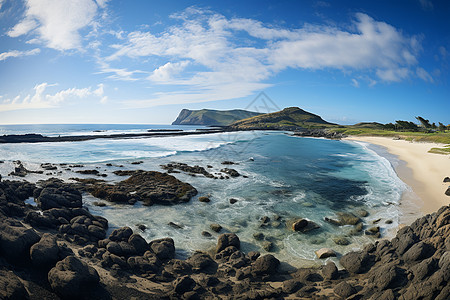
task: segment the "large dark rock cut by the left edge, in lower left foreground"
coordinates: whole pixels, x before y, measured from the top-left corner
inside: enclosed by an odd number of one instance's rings
[[[32,245],[40,240],[32,228],[22,223],[6,219],[0,222],[0,254],[11,261],[23,261],[29,258]]]

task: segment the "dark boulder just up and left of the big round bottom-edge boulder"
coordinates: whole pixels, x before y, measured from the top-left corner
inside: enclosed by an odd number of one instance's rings
[[[53,267],[59,260],[59,247],[56,243],[56,236],[44,233],[41,240],[31,246],[30,257],[33,265],[38,268]]]

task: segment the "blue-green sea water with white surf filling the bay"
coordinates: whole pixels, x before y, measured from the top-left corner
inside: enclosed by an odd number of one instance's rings
[[[147,129],[174,129],[173,126],[155,128],[149,125],[123,127],[99,125],[84,127],[54,127],[42,130],[45,134],[76,132],[136,132]],[[15,129],[8,126],[4,132]],[[50,126],[51,127],[51,126]],[[185,128],[185,127],[181,127]],[[21,131],[25,133],[27,130]],[[189,128],[194,130],[195,128]],[[30,133],[30,132],[26,132]],[[69,180],[73,177],[95,176],[75,173],[79,169],[97,169],[107,174],[102,178],[114,183],[124,177],[114,175],[116,170],[163,171],[162,164],[181,162],[199,165],[212,173],[224,167],[237,170],[242,176],[229,179],[211,179],[202,175],[173,174],[193,185],[199,194],[190,202],[175,206],[142,206],[108,203],[98,207],[98,199],[83,196],[85,206],[93,213],[109,220],[110,231],[130,226],[138,231],[138,225],[147,229],[140,232],[148,241],[162,237],[175,240],[177,255],[186,257],[195,250],[214,248],[218,234],[210,224],[218,223],[222,232],[234,232],[244,251],[258,250],[265,253],[264,242],[273,244],[271,253],[292,265],[317,263],[314,251],[329,247],[338,253],[360,248],[373,237],[352,235],[353,226],[335,226],[324,221],[336,218],[337,212],[369,212],[363,217],[366,228],[380,226],[382,236],[395,233],[399,223],[399,201],[408,187],[397,177],[391,163],[379,156],[368,144],[315,138],[293,137],[285,132],[233,132],[206,135],[97,139],[83,142],[3,144],[0,145],[0,174],[6,179],[14,168],[14,161],[21,160],[30,170],[39,169],[41,163],[83,164],[82,168],[68,170],[59,166],[50,174],[29,174],[26,180],[36,182],[48,177]],[[141,161],[139,165],[132,162]],[[223,165],[232,161],[234,165]],[[108,165],[111,164],[111,165]],[[245,177],[244,177],[245,175]],[[18,178],[11,178],[18,179]],[[210,203],[198,201],[208,196]],[[237,200],[231,204],[230,199]],[[269,217],[268,225],[261,218]],[[307,218],[320,226],[306,234],[293,232],[290,221]],[[170,222],[182,228],[174,228]],[[374,225],[376,223],[376,225]],[[203,231],[212,234],[202,235]],[[261,241],[254,234],[263,234]],[[346,237],[349,245],[337,245],[333,239]]]

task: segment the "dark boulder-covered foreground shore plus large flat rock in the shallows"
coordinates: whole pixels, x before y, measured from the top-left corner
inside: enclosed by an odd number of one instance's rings
[[[105,185],[104,199],[131,194],[134,200],[123,200],[144,201],[151,195],[151,204],[171,205],[196,194],[187,183],[157,173],[141,171]],[[128,191],[145,181],[142,190]],[[107,236],[108,221],[83,207],[87,188],[58,179],[0,182],[1,299],[450,297],[449,206],[401,228],[391,241],[339,257],[339,269],[332,261],[295,269],[270,254],[243,253],[233,233],[219,235],[213,251],[186,260],[175,258],[171,238],[147,242],[129,227]],[[31,198],[37,206],[25,204]]]

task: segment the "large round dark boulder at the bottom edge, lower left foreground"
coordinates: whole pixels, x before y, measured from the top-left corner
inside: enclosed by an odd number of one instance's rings
[[[79,299],[98,285],[100,277],[85,262],[75,256],[68,256],[48,272],[48,281],[62,298]]]

